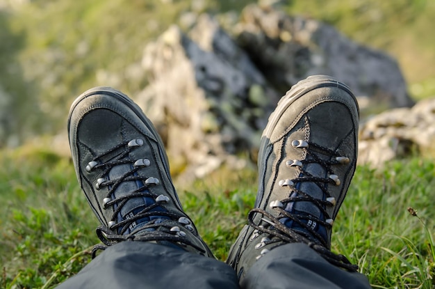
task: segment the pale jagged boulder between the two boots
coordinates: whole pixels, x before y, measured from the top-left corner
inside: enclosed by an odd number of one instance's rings
[[[172,26],[147,45],[142,68],[149,86],[135,100],[163,136],[175,173],[196,178],[258,150],[279,97],[213,19],[200,17],[189,36]]]

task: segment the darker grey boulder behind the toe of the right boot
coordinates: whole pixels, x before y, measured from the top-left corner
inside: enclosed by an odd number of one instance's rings
[[[310,75],[325,74],[345,82],[357,97],[370,97],[370,106],[413,104],[397,61],[315,19],[250,5],[236,33],[240,47],[280,93]]]

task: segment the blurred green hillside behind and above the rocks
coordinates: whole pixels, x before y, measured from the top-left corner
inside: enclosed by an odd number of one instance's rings
[[[65,130],[69,104],[92,86],[147,86],[147,42],[186,15],[210,13],[231,34],[247,0],[0,0],[0,147]],[[267,2],[267,1],[260,1]],[[400,63],[414,100],[435,95],[435,2],[293,0],[290,15],[331,24]]]

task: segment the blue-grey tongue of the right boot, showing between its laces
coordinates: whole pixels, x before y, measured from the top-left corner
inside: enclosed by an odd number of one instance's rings
[[[311,173],[313,177],[318,178],[325,178],[327,172],[323,166],[320,164],[306,164],[304,166],[304,170]],[[300,177],[304,177],[304,175],[300,175]],[[318,198],[322,200],[324,198],[324,193],[322,192],[322,189],[318,185],[315,184],[315,182],[299,182],[296,185],[296,188],[299,189],[299,191],[302,191],[306,194],[309,194],[313,198]],[[292,192],[290,194],[290,197],[297,196],[296,192]],[[286,208],[284,208],[287,212],[293,213],[293,214],[301,214],[305,215],[307,218],[302,219],[301,221],[307,224],[308,226],[313,229],[313,231],[319,233],[324,240],[327,240],[327,233],[325,230],[325,226],[322,226],[321,224],[318,224],[318,222],[313,221],[310,216],[317,217],[318,219],[323,219],[322,212],[320,212],[320,209],[317,205],[309,202],[309,201],[298,201],[298,202],[290,202],[287,203]],[[297,224],[295,221],[289,219],[289,218],[281,218],[279,221],[281,221],[282,224],[286,225],[288,228],[293,228],[295,230],[303,231],[304,233],[310,233],[306,230],[306,228],[303,228],[299,224]]]

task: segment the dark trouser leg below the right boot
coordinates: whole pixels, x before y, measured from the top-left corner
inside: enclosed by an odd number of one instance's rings
[[[266,253],[252,265],[242,288],[371,288],[359,272],[327,262],[306,244],[292,243]]]

